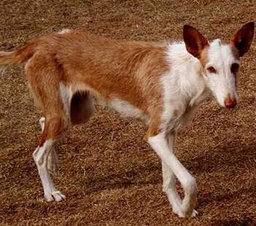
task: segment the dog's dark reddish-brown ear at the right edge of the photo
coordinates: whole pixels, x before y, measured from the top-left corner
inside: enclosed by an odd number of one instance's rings
[[[255,23],[246,23],[238,31],[235,36],[231,39],[231,44],[238,49],[239,56],[243,56],[247,53],[252,43],[253,35],[255,34]]]

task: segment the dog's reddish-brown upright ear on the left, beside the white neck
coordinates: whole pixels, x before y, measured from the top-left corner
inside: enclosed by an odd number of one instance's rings
[[[203,37],[203,34],[200,34],[200,32],[192,26],[184,25],[183,39],[186,44],[187,51],[200,59],[200,53],[203,51],[203,48],[206,48],[208,45],[206,37]]]

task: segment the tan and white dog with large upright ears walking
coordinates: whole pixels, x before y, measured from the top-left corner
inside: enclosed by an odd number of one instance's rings
[[[246,23],[230,42],[208,42],[185,25],[183,42],[129,42],[64,30],[0,52],[0,67],[25,63],[31,91],[42,108],[42,138],[34,151],[45,200],[64,200],[50,173],[58,171],[54,143],[70,124],[88,121],[92,95],[123,116],[142,119],[147,139],[162,161],[163,189],[173,212],[197,214],[197,184],[175,156],[176,131],[209,94],[219,105],[236,105],[240,57],[249,50],[254,23]],[[176,192],[176,178],[184,199]]]

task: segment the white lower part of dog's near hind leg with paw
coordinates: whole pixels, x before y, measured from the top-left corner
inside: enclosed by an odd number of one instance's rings
[[[64,200],[66,197],[59,192],[53,184],[48,173],[48,155],[53,146],[53,140],[46,140],[43,146],[38,147],[33,153],[34,162],[37,164],[37,170],[42,181],[45,200],[57,202]]]

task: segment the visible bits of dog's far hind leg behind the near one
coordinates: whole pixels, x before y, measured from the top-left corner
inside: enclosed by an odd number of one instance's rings
[[[45,117],[39,119],[39,124],[41,126],[42,132],[45,128]],[[59,175],[59,161],[58,156],[56,154],[54,146],[51,146],[50,153],[48,154],[48,171],[51,175],[58,176]]]

